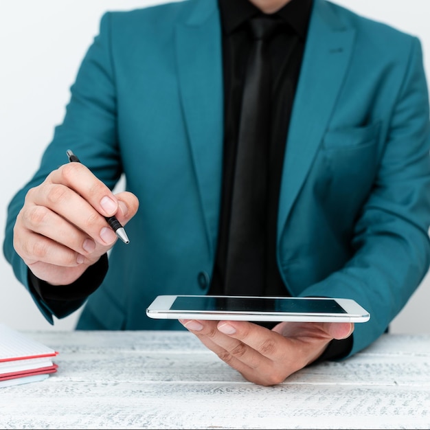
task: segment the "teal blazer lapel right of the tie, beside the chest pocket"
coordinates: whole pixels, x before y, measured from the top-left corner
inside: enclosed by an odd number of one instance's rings
[[[295,95],[280,189],[278,241],[321,144],[352,54],[354,29],[315,0]]]

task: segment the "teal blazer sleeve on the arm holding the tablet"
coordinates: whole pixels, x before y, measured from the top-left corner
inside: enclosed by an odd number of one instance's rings
[[[430,263],[429,99],[417,38],[392,111],[374,187],[354,227],[352,258],[302,296],[354,298],[370,311],[356,324],[349,355],[389,326],[424,278]]]

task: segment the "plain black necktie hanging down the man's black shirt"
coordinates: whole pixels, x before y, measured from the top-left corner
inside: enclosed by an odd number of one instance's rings
[[[236,153],[225,292],[264,292],[267,172],[270,139],[269,37],[279,21],[269,17],[249,21],[254,43],[245,72]]]

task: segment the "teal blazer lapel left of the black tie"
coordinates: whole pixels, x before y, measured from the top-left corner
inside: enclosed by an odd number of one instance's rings
[[[223,71],[216,1],[196,3],[188,21],[177,26],[179,89],[210,256],[218,231],[223,163]]]

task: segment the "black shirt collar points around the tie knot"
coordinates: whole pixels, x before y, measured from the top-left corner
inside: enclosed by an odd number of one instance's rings
[[[262,14],[249,0],[218,0],[223,31],[234,32],[252,16]],[[313,0],[291,0],[275,15],[285,21],[300,37],[306,38]]]

